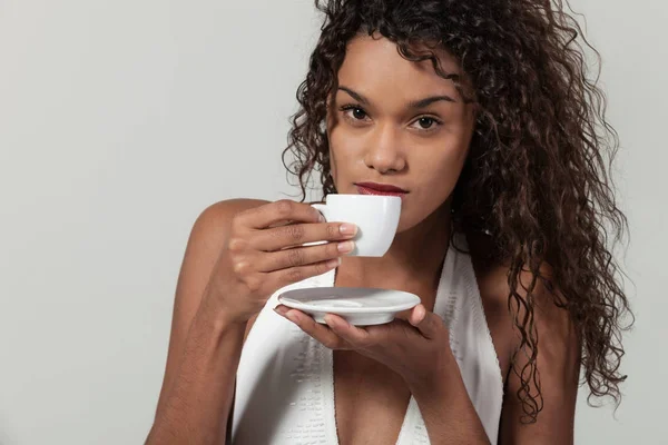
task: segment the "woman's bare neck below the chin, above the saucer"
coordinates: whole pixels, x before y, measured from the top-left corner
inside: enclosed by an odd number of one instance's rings
[[[384,256],[344,257],[337,283],[395,289],[406,284],[430,283],[435,288],[450,236],[450,206],[444,204],[415,227],[396,234]]]

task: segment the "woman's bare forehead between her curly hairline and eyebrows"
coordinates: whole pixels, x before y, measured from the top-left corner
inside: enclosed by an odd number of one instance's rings
[[[416,50],[426,47],[416,47]],[[456,59],[442,48],[433,49],[439,65],[446,73],[459,73]],[[434,90],[455,93],[451,80],[439,76],[431,60],[413,62],[404,59],[396,43],[377,34],[360,34],[346,47],[346,55],[338,71],[341,85],[364,88],[382,93],[385,90],[405,91],[410,96],[433,93]]]

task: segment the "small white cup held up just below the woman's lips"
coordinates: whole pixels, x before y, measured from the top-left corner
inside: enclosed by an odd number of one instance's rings
[[[312,204],[327,221],[357,226],[357,257],[382,257],[390,249],[399,226],[401,198],[377,195],[328,195],[326,204]]]

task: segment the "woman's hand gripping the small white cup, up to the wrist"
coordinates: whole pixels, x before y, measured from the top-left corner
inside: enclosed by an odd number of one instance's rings
[[[338,266],[357,233],[287,199],[237,214],[229,230],[204,296],[227,323],[247,322],[279,288]],[[302,246],[316,241],[328,243]]]

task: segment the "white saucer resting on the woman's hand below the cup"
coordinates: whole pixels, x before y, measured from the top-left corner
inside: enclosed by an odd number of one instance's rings
[[[371,326],[392,322],[397,313],[418,306],[420,297],[371,287],[313,287],[285,291],[278,301],[311,315],[317,323],[325,323],[325,314],[336,314],[351,325]]]

